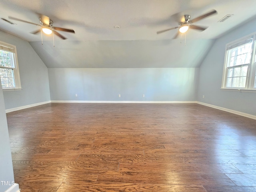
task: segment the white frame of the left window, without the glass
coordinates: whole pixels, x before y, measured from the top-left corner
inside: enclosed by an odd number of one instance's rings
[[[12,69],[14,73],[15,87],[2,87],[2,90],[3,91],[21,90],[22,88],[21,88],[21,82],[20,82],[20,71],[19,71],[19,65],[18,65],[18,55],[17,55],[16,46],[0,41],[0,50],[12,52],[13,61],[14,61],[14,64],[13,64],[14,67]],[[0,66],[0,68],[8,68],[8,67]]]

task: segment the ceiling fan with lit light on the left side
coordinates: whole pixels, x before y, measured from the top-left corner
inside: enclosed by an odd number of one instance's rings
[[[39,30],[36,30],[34,32],[31,32],[32,34],[37,34],[39,32],[44,32],[45,34],[56,34],[57,36],[59,36],[62,39],[66,39],[66,37],[62,36],[60,33],[58,33],[56,30],[58,31],[66,31],[66,32],[71,32],[71,33],[75,33],[74,30],[72,29],[65,29],[65,28],[60,28],[60,27],[54,27],[53,26],[53,21],[45,15],[40,14],[39,15],[39,22],[42,25],[36,24],[36,23],[32,23],[32,22],[28,22],[25,20],[21,20],[19,18],[15,18],[15,17],[9,17],[10,19],[16,20],[16,21],[21,21],[21,22],[25,22],[25,23],[29,23],[29,24],[33,24],[36,26],[40,26],[41,28]],[[41,31],[42,30],[42,31]]]

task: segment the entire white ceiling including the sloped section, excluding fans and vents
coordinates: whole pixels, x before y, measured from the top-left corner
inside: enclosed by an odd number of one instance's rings
[[[1,0],[0,30],[30,42],[48,68],[146,68],[198,67],[215,38],[254,18],[256,0]],[[196,18],[211,10],[218,14],[196,22],[208,26],[203,32],[176,30],[178,18]],[[40,24],[38,13],[49,16],[66,40],[30,34],[39,26],[11,20],[12,16]],[[218,22],[233,14],[225,22]],[[116,29],[115,26],[120,26]]]

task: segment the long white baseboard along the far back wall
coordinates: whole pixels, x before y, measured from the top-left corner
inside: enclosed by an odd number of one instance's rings
[[[52,100],[52,103],[196,103],[196,101],[72,101]]]

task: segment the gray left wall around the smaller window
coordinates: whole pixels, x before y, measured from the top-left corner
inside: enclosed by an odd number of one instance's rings
[[[17,48],[22,87],[4,91],[6,109],[50,101],[48,70],[30,44],[1,30],[0,40]]]

